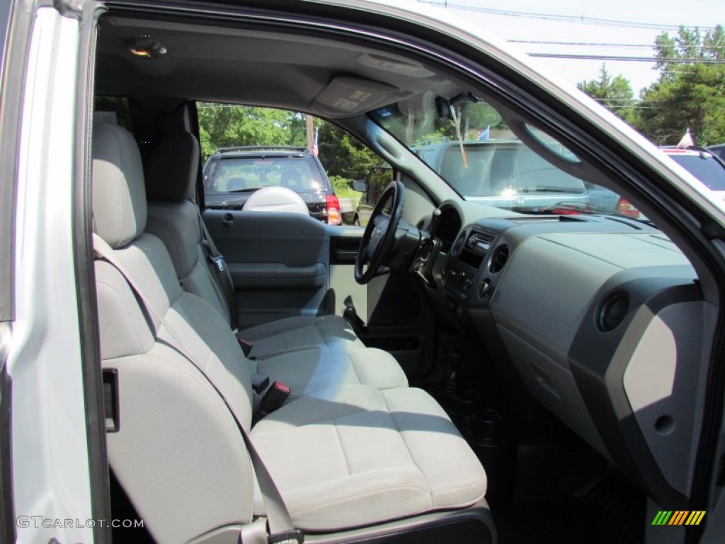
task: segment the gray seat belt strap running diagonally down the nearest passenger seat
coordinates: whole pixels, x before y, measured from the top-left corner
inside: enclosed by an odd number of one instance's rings
[[[210,379],[209,376],[204,372],[203,368],[200,368],[196,363],[194,363],[194,358],[191,357],[191,355],[188,353],[188,350],[183,345],[183,342],[181,342],[181,339],[179,339],[178,335],[175,334],[175,331],[173,327],[171,327],[168,322],[159,315],[159,313],[155,310],[155,308],[151,305],[148,298],[144,294],[144,292],[141,290],[141,288],[138,287],[138,284],[136,284],[136,281],[133,279],[133,276],[126,271],[125,265],[118,260],[116,255],[114,254],[112,248],[106,243],[104,239],[101,238],[98,234],[93,234],[93,247],[94,251],[96,252],[96,255],[98,255],[101,259],[105,260],[109,265],[112,265],[113,268],[115,268],[121,276],[124,277],[126,280],[126,283],[128,283],[128,286],[133,289],[133,292],[136,294],[139,300],[141,300],[141,303],[144,305],[144,308],[146,308],[146,311],[151,314],[159,323],[164,326],[164,328],[167,330],[168,334],[170,334],[170,337],[173,339],[173,344],[169,344],[168,342],[165,342],[167,345],[169,345],[173,350],[175,350],[177,353],[183,356],[183,358],[186,358],[189,363],[194,365],[199,371],[202,373],[204,378],[207,379],[207,382],[214,388],[214,390],[217,392],[217,394],[221,397],[221,399],[224,401],[224,404],[226,405],[228,411],[231,413],[232,417],[234,418],[234,421],[236,423],[237,429],[239,429],[239,432],[241,434],[242,439],[244,440],[244,444],[247,446],[247,451],[249,452],[249,458],[252,459],[252,466],[254,467],[254,473],[257,474],[257,483],[260,485],[260,492],[262,493],[262,502],[265,505],[265,511],[267,511],[267,524],[268,524],[268,532],[269,535],[267,537],[267,541],[269,544],[302,544],[305,542],[305,534],[294,527],[294,523],[292,522],[291,516],[289,515],[289,510],[287,510],[287,507],[284,503],[284,500],[282,498],[282,495],[279,493],[279,490],[277,489],[277,485],[275,484],[274,480],[272,479],[272,475],[268,471],[267,467],[265,466],[264,461],[262,461],[262,458],[260,457],[259,452],[257,452],[257,448],[254,448],[254,444],[252,443],[252,440],[249,438],[249,434],[247,434],[247,431],[244,430],[244,426],[241,424],[241,421],[236,416],[236,413],[232,410],[231,405],[228,403],[226,398],[224,397],[223,393],[219,390],[219,388],[216,386],[216,384]]]

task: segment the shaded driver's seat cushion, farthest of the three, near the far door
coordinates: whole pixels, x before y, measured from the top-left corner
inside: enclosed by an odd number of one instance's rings
[[[340,316],[295,316],[258,325],[239,332],[239,337],[252,342],[250,356],[270,357],[306,347],[336,347],[352,351],[365,344]]]

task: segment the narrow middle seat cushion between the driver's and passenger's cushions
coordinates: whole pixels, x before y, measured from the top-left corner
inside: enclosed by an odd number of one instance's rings
[[[347,353],[334,347],[314,347],[252,362],[257,363],[257,374],[289,386],[290,400],[348,385],[407,387],[407,378],[397,360],[374,348]]]

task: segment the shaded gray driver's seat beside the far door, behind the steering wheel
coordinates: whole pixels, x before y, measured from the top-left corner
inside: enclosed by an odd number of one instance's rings
[[[176,275],[188,292],[210,302],[230,321],[229,308],[218,278],[202,249],[202,229],[194,194],[199,144],[188,132],[178,132],[159,142],[146,160],[146,194],[149,200],[146,231],[166,244]],[[307,207],[305,207],[307,213]],[[250,356],[265,358],[289,350],[365,347],[340,316],[294,316],[239,331],[253,343]]]

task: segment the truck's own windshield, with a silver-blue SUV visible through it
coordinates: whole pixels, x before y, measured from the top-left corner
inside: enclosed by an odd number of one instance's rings
[[[576,176],[581,161],[563,144],[525,123],[514,131],[477,96],[423,94],[372,117],[466,200],[521,213],[623,211],[624,199]]]

